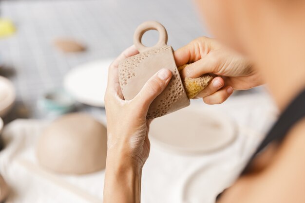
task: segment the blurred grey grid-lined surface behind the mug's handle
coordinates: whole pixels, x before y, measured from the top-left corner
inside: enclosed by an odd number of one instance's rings
[[[0,74],[17,91],[16,106],[6,122],[43,117],[37,108],[43,94],[61,87],[72,68],[119,55],[133,44],[135,28],[146,20],[166,27],[173,49],[208,35],[186,0],[1,0],[0,18],[16,29],[0,38]],[[143,43],[151,46],[157,37],[156,31],[148,32]],[[75,40],[86,50],[62,52],[55,44],[58,39]]]

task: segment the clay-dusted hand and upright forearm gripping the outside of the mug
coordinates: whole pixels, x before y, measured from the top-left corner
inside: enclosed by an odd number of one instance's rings
[[[142,90],[125,101],[118,80],[119,61],[138,54],[134,46],[125,50],[109,67],[105,108],[108,130],[104,203],[139,202],[141,169],[150,151],[146,120],[150,104],[168,85],[172,73],[162,69]]]

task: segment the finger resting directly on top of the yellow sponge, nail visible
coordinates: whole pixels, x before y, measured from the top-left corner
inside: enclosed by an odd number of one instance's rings
[[[191,63],[181,71],[182,78],[197,78],[203,74],[217,74],[223,63],[223,57],[217,53],[210,53],[200,60]]]

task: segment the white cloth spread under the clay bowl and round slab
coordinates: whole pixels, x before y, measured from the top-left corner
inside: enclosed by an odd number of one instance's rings
[[[195,101],[192,105],[203,104]],[[215,196],[239,174],[277,115],[266,93],[232,97],[209,108],[224,111],[236,121],[237,139],[223,150],[196,156],[175,154],[152,142],[143,168],[142,203],[214,202]],[[6,148],[0,152],[0,173],[12,188],[7,202],[102,203],[104,170],[67,176],[38,166],[35,146],[47,123],[18,119],[5,127],[2,136]]]

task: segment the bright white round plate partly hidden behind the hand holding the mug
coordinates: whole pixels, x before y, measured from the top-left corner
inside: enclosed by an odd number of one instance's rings
[[[72,69],[64,77],[64,88],[76,101],[95,107],[104,107],[108,67],[113,59],[89,62]]]

